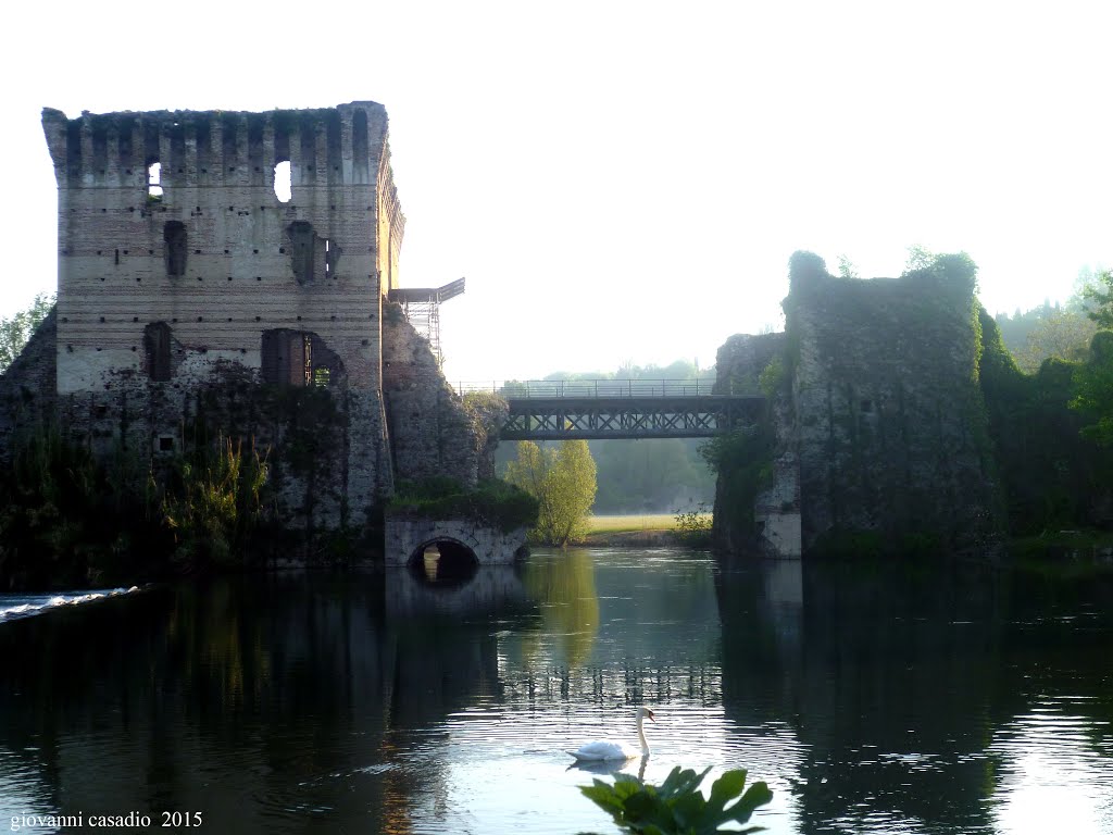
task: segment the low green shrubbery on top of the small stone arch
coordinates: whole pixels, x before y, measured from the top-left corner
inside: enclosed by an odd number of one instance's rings
[[[474,490],[444,475],[403,481],[388,509],[435,520],[470,519],[508,533],[538,521],[536,499],[500,479],[484,479]]]

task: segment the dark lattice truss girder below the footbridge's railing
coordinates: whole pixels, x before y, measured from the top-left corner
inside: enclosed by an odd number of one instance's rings
[[[756,422],[764,397],[512,397],[504,441],[711,438]]]

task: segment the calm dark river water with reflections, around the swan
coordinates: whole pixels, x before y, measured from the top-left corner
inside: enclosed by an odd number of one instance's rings
[[[540,551],[447,588],[280,573],[61,607],[0,623],[0,832],[614,833],[564,750],[634,744],[649,704],[644,777],[746,767],[771,833],[1113,833],[1092,583]]]

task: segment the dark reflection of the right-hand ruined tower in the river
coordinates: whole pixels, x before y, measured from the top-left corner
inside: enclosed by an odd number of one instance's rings
[[[805,592],[805,825],[991,831],[995,766],[983,752],[1001,698],[996,581],[818,564],[806,568]]]

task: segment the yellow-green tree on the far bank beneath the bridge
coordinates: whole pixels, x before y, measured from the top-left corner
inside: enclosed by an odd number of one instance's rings
[[[595,462],[587,441],[561,441],[555,450],[519,441],[506,481],[538,500],[535,539],[560,547],[583,539],[595,501]]]

